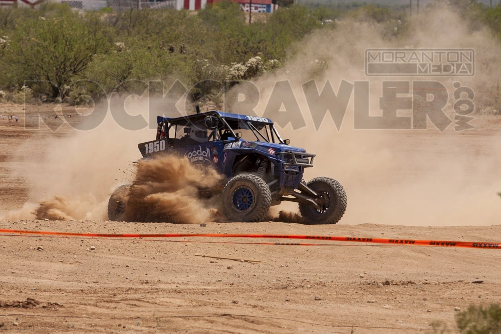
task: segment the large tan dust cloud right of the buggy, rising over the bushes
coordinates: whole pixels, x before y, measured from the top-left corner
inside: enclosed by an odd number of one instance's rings
[[[293,129],[289,123],[281,135],[290,138],[291,145],[317,154],[315,167],[305,172],[306,180],[328,176],[344,186],[348,207],[341,224],[499,224],[501,202],[496,193],[501,190],[500,123],[493,125],[495,116],[485,116],[488,111],[478,100],[485,95],[486,86],[501,78],[501,46],[487,29],[470,32],[464,20],[447,9],[415,15],[408,25],[408,33],[399,38],[388,38],[388,27],[366,20],[341,21],[333,30],[312,34],[283,69],[255,81],[260,103],[254,110],[262,116],[275,83],[290,82],[306,126]],[[395,24],[395,28],[401,27]],[[475,76],[454,80],[366,77],[364,52],[369,48],[474,49]],[[381,115],[383,80],[440,81],[449,90],[444,112],[451,119],[452,83],[458,80],[476,94],[476,110],[470,115],[476,129],[456,132],[452,123],[440,132],[429,120],[427,130],[355,129],[352,95],[340,131],[328,114],[317,131],[301,88],[311,79],[316,80],[319,91],[329,80],[335,92],[342,80],[369,81],[370,116]],[[285,105],[281,111],[284,109]],[[412,111],[400,110],[397,115],[410,117]],[[272,208],[276,216],[284,210],[297,212],[297,204],[286,202]]]

